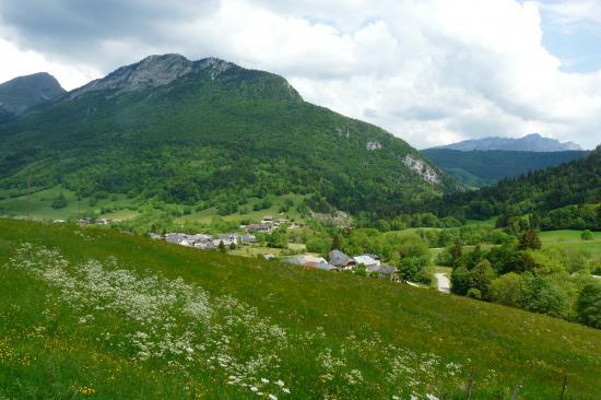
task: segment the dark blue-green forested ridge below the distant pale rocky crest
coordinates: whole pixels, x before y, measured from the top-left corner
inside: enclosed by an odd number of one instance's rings
[[[504,178],[567,163],[588,154],[586,151],[459,151],[451,149],[426,149],[422,153],[469,187],[494,185]]]

